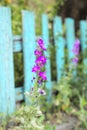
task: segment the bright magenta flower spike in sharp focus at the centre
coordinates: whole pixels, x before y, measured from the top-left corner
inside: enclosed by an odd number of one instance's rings
[[[38,85],[41,85],[43,82],[47,80],[46,73],[44,71],[41,72],[41,70],[44,69],[43,67],[47,62],[47,58],[44,56],[44,51],[46,50],[46,48],[44,47],[44,41],[41,38],[39,38],[37,40],[37,44],[37,48],[34,51],[36,60],[35,65],[32,68],[32,72],[35,72],[37,74],[37,83]],[[32,79],[31,81],[33,82],[34,79]]]

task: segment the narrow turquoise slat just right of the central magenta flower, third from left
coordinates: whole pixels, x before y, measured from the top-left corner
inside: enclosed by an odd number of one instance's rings
[[[49,47],[49,31],[48,31],[48,17],[46,14],[42,15],[42,37],[44,39],[45,42],[45,47],[48,48]],[[50,90],[49,92],[49,96],[48,96],[48,100],[50,100],[51,98],[51,88],[52,88],[52,82],[51,82],[51,66],[50,66],[50,52],[46,51],[45,55],[48,57],[47,59],[47,64],[46,64],[46,75],[47,75],[47,79],[48,82],[46,83],[46,88],[48,88]]]

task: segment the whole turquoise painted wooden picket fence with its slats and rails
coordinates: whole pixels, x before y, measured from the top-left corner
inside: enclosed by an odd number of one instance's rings
[[[46,14],[42,15],[42,38],[45,41],[45,46],[49,46],[49,29],[48,17]],[[56,16],[53,20],[53,35],[56,47],[56,66],[57,66],[57,81],[62,76],[64,69],[64,48],[68,48],[68,59],[73,57],[71,52],[73,43],[75,41],[75,26],[72,18],[65,20],[66,37],[63,35],[63,24],[61,17]],[[32,66],[34,64],[35,56],[33,55],[36,48],[35,35],[35,15],[29,11],[22,11],[22,35],[13,36],[11,25],[11,10],[8,7],[0,7],[0,112],[10,114],[15,111],[16,102],[27,99],[24,97],[24,92],[29,91],[32,83]],[[87,22],[80,22],[81,32],[81,46],[82,52],[87,48]],[[24,57],[24,86],[15,88],[14,84],[14,63],[13,53],[22,52]],[[49,51],[46,52],[49,57]],[[87,64],[87,59],[83,60]],[[20,67],[20,66],[19,66]],[[51,81],[51,67],[48,59],[46,65],[46,73],[48,82],[46,87],[49,89],[49,99],[51,98],[52,81]]]

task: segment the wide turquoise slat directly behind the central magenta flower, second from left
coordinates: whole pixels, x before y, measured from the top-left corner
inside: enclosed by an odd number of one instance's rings
[[[33,12],[22,11],[23,26],[23,55],[24,55],[24,91],[29,91],[32,86],[32,67],[35,56],[35,17]],[[25,98],[26,104],[27,99]]]

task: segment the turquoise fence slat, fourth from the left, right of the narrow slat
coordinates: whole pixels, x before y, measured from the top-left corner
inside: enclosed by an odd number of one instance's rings
[[[56,16],[54,19],[53,32],[56,45],[57,81],[59,81],[64,70],[64,46],[65,46],[65,41],[62,36],[63,33],[62,20],[60,17]]]

